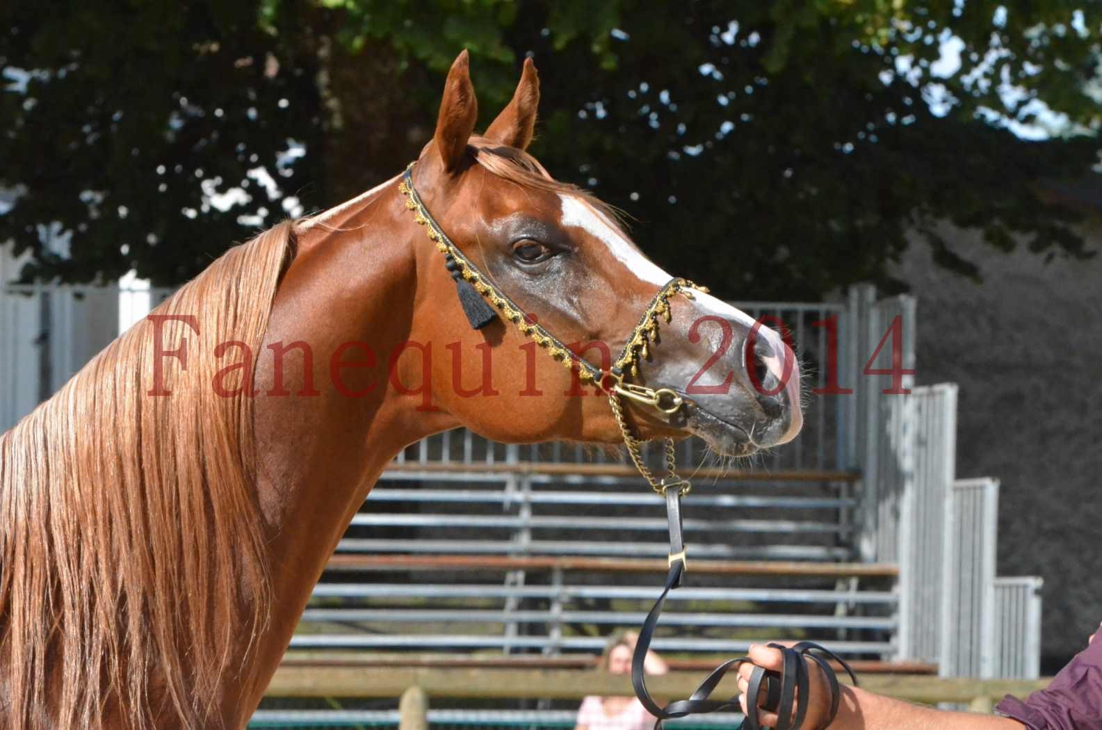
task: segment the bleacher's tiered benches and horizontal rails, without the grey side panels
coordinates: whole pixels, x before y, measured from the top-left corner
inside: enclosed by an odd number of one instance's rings
[[[683,444],[682,463],[699,463],[700,448]],[[599,653],[608,633],[642,622],[667,567],[662,502],[614,459],[463,430],[411,447],[354,517],[292,657]],[[690,582],[671,593],[656,650],[691,662],[812,638],[854,658],[893,654],[897,570],[853,561],[855,474],[781,463],[702,468],[693,482]]]

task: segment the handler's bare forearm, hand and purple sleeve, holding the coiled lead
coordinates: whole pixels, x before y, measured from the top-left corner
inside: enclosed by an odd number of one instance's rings
[[[1100,626],[1102,627],[1102,626]],[[995,706],[996,715],[946,712],[882,697],[857,687],[842,687],[838,716],[829,726],[830,689],[819,666],[808,662],[811,674],[810,705],[803,722],[807,730],[1102,730],[1102,641],[1087,641],[1087,648],[1077,654],[1052,683],[1020,700],[1007,695]],[[750,647],[754,664],[779,670],[780,652],[764,645]],[[746,711],[746,687],[754,667],[744,664],[738,669],[739,704]],[[763,704],[761,697],[758,706]],[[763,711],[765,727],[773,727],[777,716]]]

